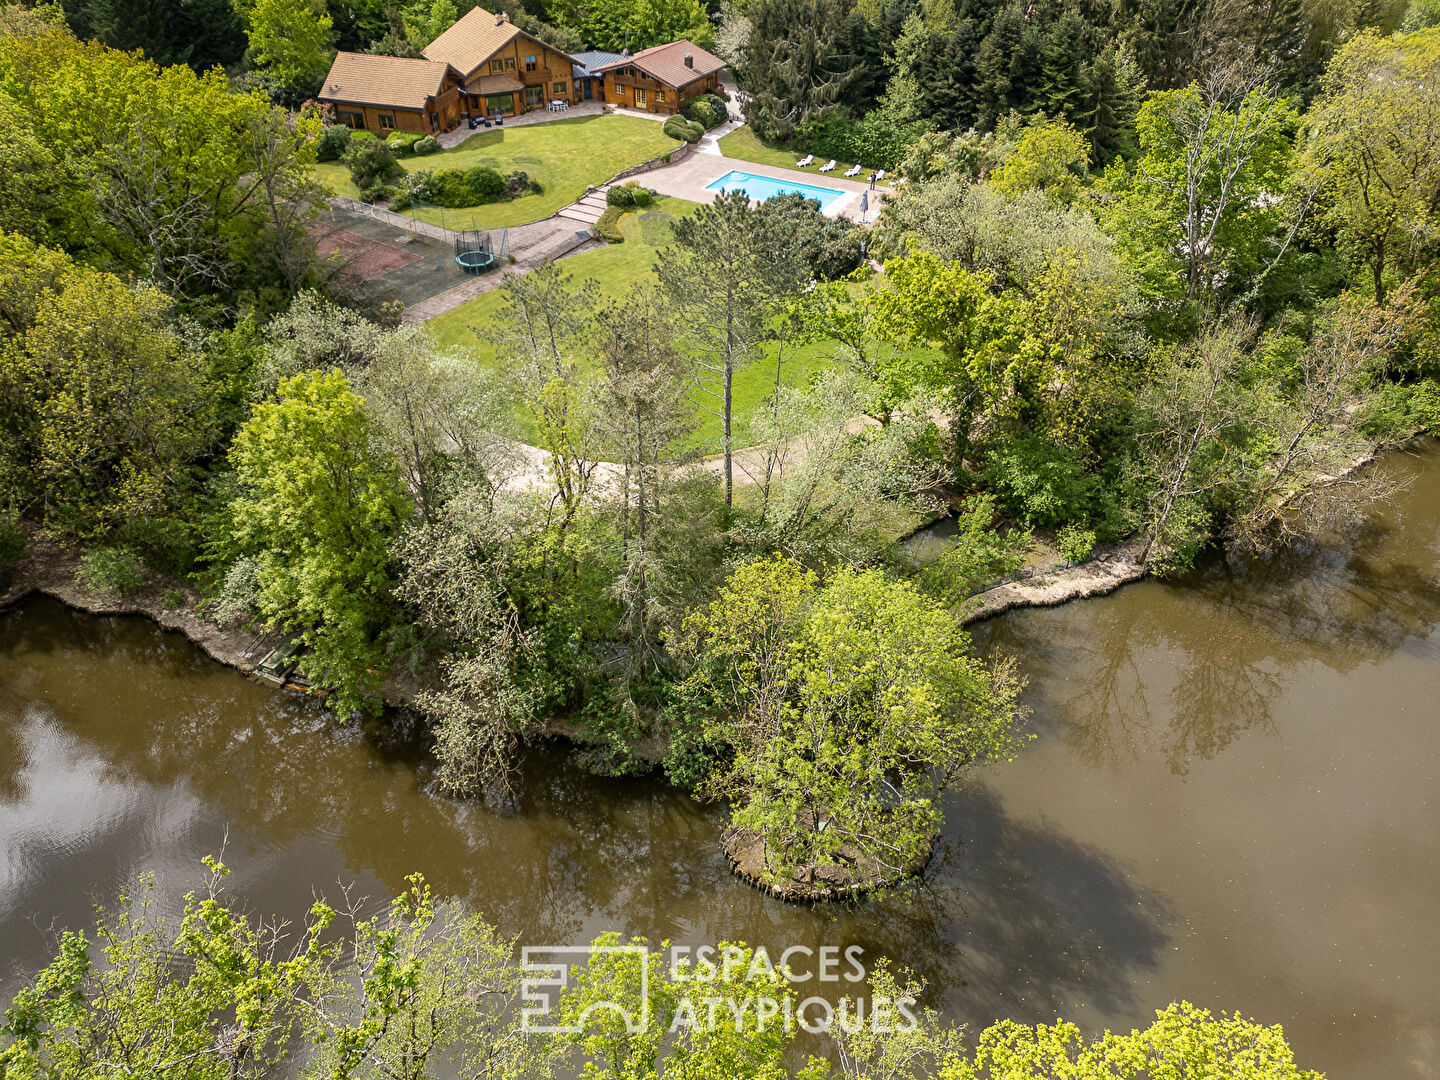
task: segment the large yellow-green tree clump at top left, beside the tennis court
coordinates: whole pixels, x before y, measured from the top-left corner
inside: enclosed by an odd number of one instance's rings
[[[0,82],[23,114],[17,130],[62,163],[46,215],[56,239],[193,301],[308,266],[318,117],[235,92],[219,69],[158,68],[58,30],[0,40],[0,68],[19,69]]]

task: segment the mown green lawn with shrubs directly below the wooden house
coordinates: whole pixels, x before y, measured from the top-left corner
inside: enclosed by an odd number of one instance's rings
[[[549,217],[569,206],[589,184],[603,184],[616,173],[660,157],[678,144],[660,124],[639,117],[572,117],[546,124],[477,131],[454,150],[400,158],[408,170],[490,166],[501,174],[520,168],[540,181],[540,194],[467,210],[426,206],[413,216],[446,229],[501,229]],[[315,179],[336,194],[359,199],[350,170],[338,161],[315,166]]]

